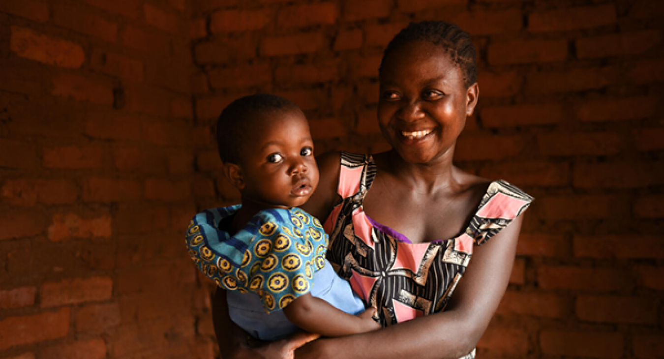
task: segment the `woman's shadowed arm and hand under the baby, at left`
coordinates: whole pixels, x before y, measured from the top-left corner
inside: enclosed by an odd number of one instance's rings
[[[224,359],[293,359],[295,348],[318,338],[317,334],[297,332],[282,340],[250,346],[246,332],[230,320],[226,292],[221,288],[216,289],[212,299],[212,322],[219,351]]]

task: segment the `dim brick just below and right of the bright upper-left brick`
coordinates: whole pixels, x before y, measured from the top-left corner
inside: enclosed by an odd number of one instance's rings
[[[72,97],[76,101],[88,101],[93,104],[112,105],[114,103],[112,84],[92,80],[78,74],[58,74],[53,76],[55,96]]]

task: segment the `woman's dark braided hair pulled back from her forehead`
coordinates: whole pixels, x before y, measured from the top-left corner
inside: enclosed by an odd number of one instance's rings
[[[385,48],[380,60],[378,72],[382,70],[385,58],[402,45],[414,41],[426,41],[442,46],[463,72],[463,85],[469,88],[477,82],[477,52],[470,39],[470,35],[461,30],[457,25],[445,21],[422,21],[421,23],[410,23],[406,29],[398,33]]]

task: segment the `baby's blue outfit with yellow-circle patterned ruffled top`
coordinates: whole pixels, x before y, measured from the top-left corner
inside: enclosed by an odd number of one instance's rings
[[[199,270],[226,290],[230,319],[262,340],[297,330],[284,307],[311,293],[351,315],[365,305],[325,259],[327,234],[299,208],[262,210],[236,234],[228,229],[241,205],[194,216],[185,243]]]

